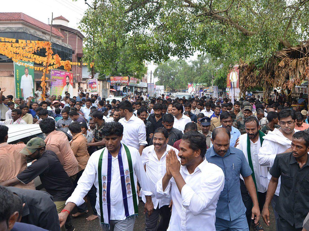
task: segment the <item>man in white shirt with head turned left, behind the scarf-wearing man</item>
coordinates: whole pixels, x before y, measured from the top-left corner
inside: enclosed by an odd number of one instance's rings
[[[118,109],[120,116],[123,117],[119,120],[119,123],[124,127],[122,142],[138,149],[142,155],[142,151],[147,145],[144,121],[133,115],[132,104],[127,100],[119,103]]]

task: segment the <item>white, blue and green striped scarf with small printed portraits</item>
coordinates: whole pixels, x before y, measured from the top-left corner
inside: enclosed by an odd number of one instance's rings
[[[126,155],[121,155],[121,149],[125,148]],[[134,183],[134,172],[132,159],[129,148],[123,144],[120,146],[118,153],[119,172],[121,180],[121,191],[123,197],[123,205],[125,209],[125,217],[127,220],[138,216],[137,194]],[[101,213],[101,224],[109,228],[111,213],[111,180],[112,180],[112,155],[108,151],[104,155],[103,149],[98,164],[98,180],[99,180],[99,203]],[[102,168],[103,166],[103,168]],[[116,171],[116,169],[115,169]],[[118,193],[118,192],[113,192]]]

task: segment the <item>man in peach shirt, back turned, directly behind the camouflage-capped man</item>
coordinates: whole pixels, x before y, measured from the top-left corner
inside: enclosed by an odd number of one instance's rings
[[[78,162],[70,147],[69,140],[64,132],[56,131],[55,120],[46,118],[40,122],[40,128],[45,133],[46,150],[56,153],[66,173],[72,182],[78,173]]]

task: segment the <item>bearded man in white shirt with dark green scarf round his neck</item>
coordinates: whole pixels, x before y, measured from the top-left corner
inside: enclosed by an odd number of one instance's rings
[[[236,148],[243,151],[249,163],[249,166],[253,172],[252,179],[256,186],[256,191],[257,191],[256,193],[258,195],[260,213],[262,213],[263,206],[264,206],[265,199],[266,199],[266,191],[267,191],[267,188],[263,185],[268,184],[268,180],[267,180],[268,168],[260,166],[258,153],[259,153],[260,147],[263,144],[263,140],[264,140],[263,137],[265,136],[265,134],[260,131],[259,122],[253,116],[249,116],[245,120],[245,128],[246,128],[246,133],[239,136],[239,142]],[[250,143],[250,149],[248,149],[249,143]],[[250,150],[250,153],[248,153],[249,150]],[[243,182],[243,177],[240,176],[240,179],[241,179],[240,180],[241,197],[243,198],[243,203],[247,209],[246,217],[247,217],[248,226],[250,227],[251,214],[252,214],[251,213],[252,199]],[[259,227],[259,226],[260,224],[255,225],[255,227]]]

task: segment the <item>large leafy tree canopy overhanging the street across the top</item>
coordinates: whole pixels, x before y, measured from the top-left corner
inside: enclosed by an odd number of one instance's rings
[[[89,9],[82,27],[94,31],[98,48],[93,57],[103,70],[110,70],[128,45],[137,60],[157,63],[195,51],[208,53],[226,74],[239,58],[262,66],[275,51],[308,38],[309,0],[94,2],[96,13]]]

